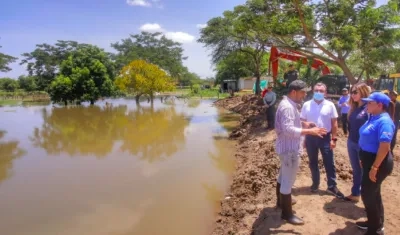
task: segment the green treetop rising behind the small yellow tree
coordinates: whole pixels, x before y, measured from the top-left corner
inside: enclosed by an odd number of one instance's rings
[[[121,42],[112,43],[117,50],[115,61],[118,69],[133,60],[145,60],[148,63],[158,65],[173,77],[177,78],[183,70],[182,44],[166,38],[162,33],[148,33],[130,35]]]

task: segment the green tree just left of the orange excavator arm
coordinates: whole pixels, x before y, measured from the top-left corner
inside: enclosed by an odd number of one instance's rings
[[[212,61],[217,64],[233,52],[242,52],[252,59],[252,73],[256,79],[256,93],[260,93],[262,63],[271,37],[268,34],[267,17],[253,12],[253,3],[248,1],[233,11],[225,11],[222,17],[212,18],[207,27],[201,29],[198,42],[212,49]],[[266,6],[266,5],[264,5]]]

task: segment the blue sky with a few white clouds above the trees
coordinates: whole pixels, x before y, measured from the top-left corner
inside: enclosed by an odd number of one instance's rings
[[[199,26],[245,0],[6,0],[0,8],[1,52],[20,57],[36,44],[56,40],[91,43],[112,51],[110,43],[143,30],[161,30],[182,42],[185,65],[201,77],[212,76],[209,52],[196,42]],[[378,4],[387,0],[378,0]],[[0,77],[26,73],[18,63]]]

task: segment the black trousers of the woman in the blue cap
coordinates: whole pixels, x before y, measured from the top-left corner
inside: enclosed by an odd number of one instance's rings
[[[376,234],[376,231],[383,227],[384,209],[381,196],[381,185],[383,180],[390,175],[393,170],[393,156],[389,151],[376,173],[376,183],[372,182],[369,179],[369,172],[374,164],[375,158],[375,153],[360,150],[360,160],[363,166],[361,198],[367,212],[368,234]]]

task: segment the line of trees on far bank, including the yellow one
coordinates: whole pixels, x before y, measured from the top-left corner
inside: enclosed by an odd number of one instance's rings
[[[183,65],[180,43],[162,33],[142,32],[111,44],[116,53],[76,41],[38,44],[21,55],[28,75],[0,79],[0,90],[46,91],[53,102],[65,104],[101,97],[133,94],[154,96],[176,85],[192,86],[204,80]],[[11,70],[16,57],[0,53],[0,71]]]

